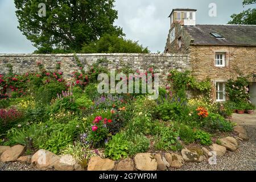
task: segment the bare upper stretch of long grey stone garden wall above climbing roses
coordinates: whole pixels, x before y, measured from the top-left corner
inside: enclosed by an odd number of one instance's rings
[[[160,84],[166,83],[166,77],[171,69],[184,71],[191,69],[188,55],[186,54],[138,54],[138,53],[97,53],[77,54],[77,57],[87,69],[93,63],[101,64],[109,69],[129,67],[136,71],[146,71],[153,67],[160,73]],[[101,61],[99,61],[101,60]],[[73,54],[36,55],[36,54],[0,54],[0,74],[9,72],[7,64],[13,65],[14,73],[37,72],[39,68],[36,62],[40,62],[49,71],[53,71],[57,62],[61,62],[61,71],[65,78],[71,77],[73,71],[79,67]]]

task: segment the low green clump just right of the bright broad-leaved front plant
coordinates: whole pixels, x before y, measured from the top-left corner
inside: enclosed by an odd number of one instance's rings
[[[144,135],[135,135],[133,140],[129,141],[129,155],[146,152],[150,146],[150,140]]]

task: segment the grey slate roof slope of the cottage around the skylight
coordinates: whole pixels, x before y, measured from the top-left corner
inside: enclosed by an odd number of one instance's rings
[[[184,26],[192,37],[193,45],[209,46],[256,46],[256,26],[197,24]],[[220,34],[215,38],[210,33]]]

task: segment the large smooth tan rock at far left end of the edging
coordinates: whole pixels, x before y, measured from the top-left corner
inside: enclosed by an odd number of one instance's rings
[[[20,155],[24,152],[24,147],[20,144],[13,146],[6,151],[4,151],[1,155],[2,162],[15,162]]]

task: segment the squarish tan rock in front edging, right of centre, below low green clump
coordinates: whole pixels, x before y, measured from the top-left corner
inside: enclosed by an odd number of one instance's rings
[[[134,157],[135,167],[139,171],[156,171],[158,169],[158,163],[153,154],[141,153]]]

